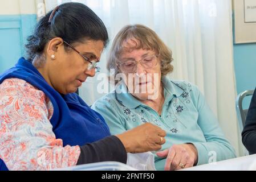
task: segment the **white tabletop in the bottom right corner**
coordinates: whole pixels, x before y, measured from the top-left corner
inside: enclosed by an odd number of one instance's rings
[[[247,171],[251,169],[256,170],[256,154],[223,160],[215,164],[204,164],[183,169],[183,171]]]

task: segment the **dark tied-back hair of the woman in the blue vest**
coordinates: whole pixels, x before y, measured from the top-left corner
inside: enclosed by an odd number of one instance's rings
[[[64,3],[55,9],[51,22],[50,11],[36,24],[34,33],[26,44],[26,59],[33,61],[41,56],[46,44],[53,38],[60,37],[70,44],[86,39],[101,40],[104,47],[108,44],[108,32],[102,20],[82,3]]]

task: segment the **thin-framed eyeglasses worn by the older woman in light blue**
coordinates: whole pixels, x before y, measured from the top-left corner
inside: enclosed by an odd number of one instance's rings
[[[147,56],[139,61],[126,60],[123,63],[118,64],[121,71],[125,73],[135,73],[137,65],[141,64],[145,69],[151,69],[157,65],[157,57],[159,56]]]

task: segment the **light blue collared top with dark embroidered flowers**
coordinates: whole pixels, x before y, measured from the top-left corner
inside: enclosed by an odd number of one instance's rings
[[[198,151],[198,165],[213,162],[212,159],[234,158],[233,147],[197,86],[166,77],[162,83],[165,102],[161,115],[127,93],[124,84],[96,101],[92,109],[103,115],[113,135],[150,122],[166,131],[162,150],[173,144],[193,143]],[[156,169],[163,170],[165,159],[155,155],[155,164]]]

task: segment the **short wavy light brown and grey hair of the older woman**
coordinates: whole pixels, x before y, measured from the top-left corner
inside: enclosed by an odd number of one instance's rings
[[[131,39],[136,40],[135,46],[129,48],[124,47],[123,44]],[[173,61],[172,51],[162,42],[155,31],[141,24],[125,26],[116,35],[108,56],[108,71],[115,69],[116,77],[116,75],[120,73],[117,63],[120,62],[121,54],[141,48],[155,51],[157,55],[159,55],[162,77],[173,71],[173,66],[170,64]]]

